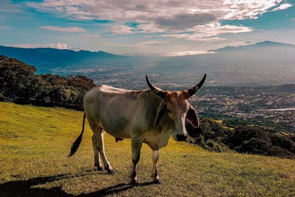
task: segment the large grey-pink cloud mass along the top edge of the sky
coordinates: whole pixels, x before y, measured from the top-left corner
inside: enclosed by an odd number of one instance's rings
[[[157,25],[186,28],[216,20],[255,18],[270,8],[286,2],[283,0],[44,0],[27,4],[39,10],[60,12],[72,18],[89,20],[154,21]],[[281,4],[278,9],[292,6]],[[276,8],[277,9],[277,8]]]

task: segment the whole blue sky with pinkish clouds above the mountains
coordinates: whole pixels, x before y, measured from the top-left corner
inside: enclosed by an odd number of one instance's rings
[[[0,45],[169,56],[295,44],[295,0],[0,0]]]

